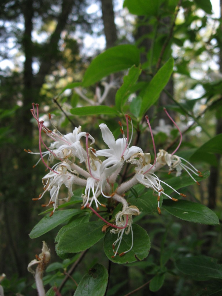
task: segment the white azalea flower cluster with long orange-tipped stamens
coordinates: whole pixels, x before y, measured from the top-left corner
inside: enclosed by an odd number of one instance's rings
[[[75,128],[73,133],[68,133],[67,135],[62,135],[56,128],[53,131],[49,130],[49,128],[44,125],[44,122],[39,120],[38,104],[36,104],[36,108],[37,109],[35,110],[35,105],[33,104],[33,109],[31,109],[31,112],[38,123],[39,154],[41,156],[40,159],[50,170],[50,172],[42,178],[44,192],[40,194],[40,196],[35,200],[41,199],[46,192],[50,192],[51,198],[48,205],[53,204],[54,210],[51,213],[52,215],[55,209],[58,207],[59,189],[62,184],[68,188],[68,196],[65,199],[62,199],[65,201],[69,201],[73,196],[72,185],[75,184],[85,187],[85,192],[82,195],[82,208],[89,207],[92,209],[91,205],[93,202],[95,203],[97,209],[99,209],[99,205],[104,206],[99,201],[99,197],[101,195],[105,198],[113,198],[117,202],[122,203],[122,211],[116,215],[116,225],[113,225],[115,229],[111,230],[112,233],[118,233],[118,238],[113,244],[113,250],[118,242],[119,248],[124,231],[126,234],[128,234],[130,231],[132,233],[132,215],[139,215],[138,208],[135,206],[129,207],[125,198],[123,197],[124,193],[127,192],[133,185],[141,183],[145,187],[151,188],[157,193],[157,209],[160,213],[160,195],[165,194],[161,184],[167,184],[157,177],[155,174],[157,170],[162,168],[164,165],[168,165],[169,171],[171,172],[172,170],[176,170],[177,176],[181,174],[182,169],[186,170],[193,179],[194,177],[191,175],[191,173],[200,176],[200,172],[197,171],[191,164],[184,164],[184,162],[187,163],[186,160],[174,155],[174,153],[169,154],[164,150],[160,150],[157,155],[155,152],[155,160],[151,165],[151,157],[149,153],[144,153],[140,147],[130,147],[132,135],[131,137],[129,136],[128,125],[131,123],[132,126],[132,122],[128,115],[126,115],[127,132],[125,134],[123,131],[123,126],[121,126],[120,130],[122,133],[122,138],[120,139],[115,140],[112,132],[109,130],[106,124],[102,123],[99,125],[99,128],[102,132],[103,141],[108,146],[108,149],[96,151],[91,147],[91,145],[95,142],[94,138],[89,133],[82,132],[81,126]],[[49,119],[51,120],[50,115]],[[148,118],[146,119],[150,128],[149,120]],[[49,147],[46,146],[42,139],[42,131],[52,140],[52,143]],[[80,142],[83,137],[85,138],[85,143]],[[88,145],[89,139],[91,141],[90,145]],[[41,151],[42,146],[46,148],[45,152]],[[84,148],[84,146],[86,148]],[[37,154],[31,152],[30,150],[25,151],[32,154]],[[44,160],[45,156],[48,156],[48,160],[46,162]],[[85,163],[86,169],[82,168],[76,163],[76,158],[79,159],[80,163]],[[50,167],[49,164],[55,159],[59,160],[59,162]],[[101,159],[104,160],[102,161]],[[123,182],[114,190],[113,184],[116,182],[117,177],[119,176],[121,169],[126,162],[136,165],[135,174],[129,181]],[[173,190],[177,194],[184,196],[175,189]],[[176,201],[175,198],[172,198],[167,194],[165,195]],[[130,251],[132,247],[133,233],[132,246],[126,252]],[[116,251],[114,250],[115,255],[117,254],[118,248]],[[124,252],[124,254],[126,252]]]

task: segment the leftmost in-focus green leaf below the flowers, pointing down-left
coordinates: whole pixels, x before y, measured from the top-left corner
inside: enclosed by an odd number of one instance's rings
[[[51,217],[49,215],[42,218],[36,226],[32,229],[29,236],[31,239],[36,237],[40,237],[41,235],[45,234],[46,232],[52,230],[59,224],[64,223],[71,217],[82,213],[81,210],[77,209],[70,209],[70,210],[62,210],[56,211]]]

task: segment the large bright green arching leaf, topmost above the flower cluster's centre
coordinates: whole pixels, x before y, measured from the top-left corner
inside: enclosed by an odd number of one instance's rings
[[[82,86],[90,86],[111,73],[126,70],[140,61],[139,49],[131,44],[123,44],[107,49],[89,65],[83,77]]]

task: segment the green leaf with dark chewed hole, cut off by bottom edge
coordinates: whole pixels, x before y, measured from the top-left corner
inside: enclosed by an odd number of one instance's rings
[[[83,276],[74,296],[103,296],[108,284],[107,269],[96,263],[89,272]]]

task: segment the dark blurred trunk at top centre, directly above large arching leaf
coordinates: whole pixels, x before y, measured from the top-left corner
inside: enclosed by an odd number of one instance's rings
[[[112,0],[101,0],[102,4],[102,20],[104,25],[104,33],[106,37],[106,48],[116,45],[117,30],[114,21],[114,11]]]

